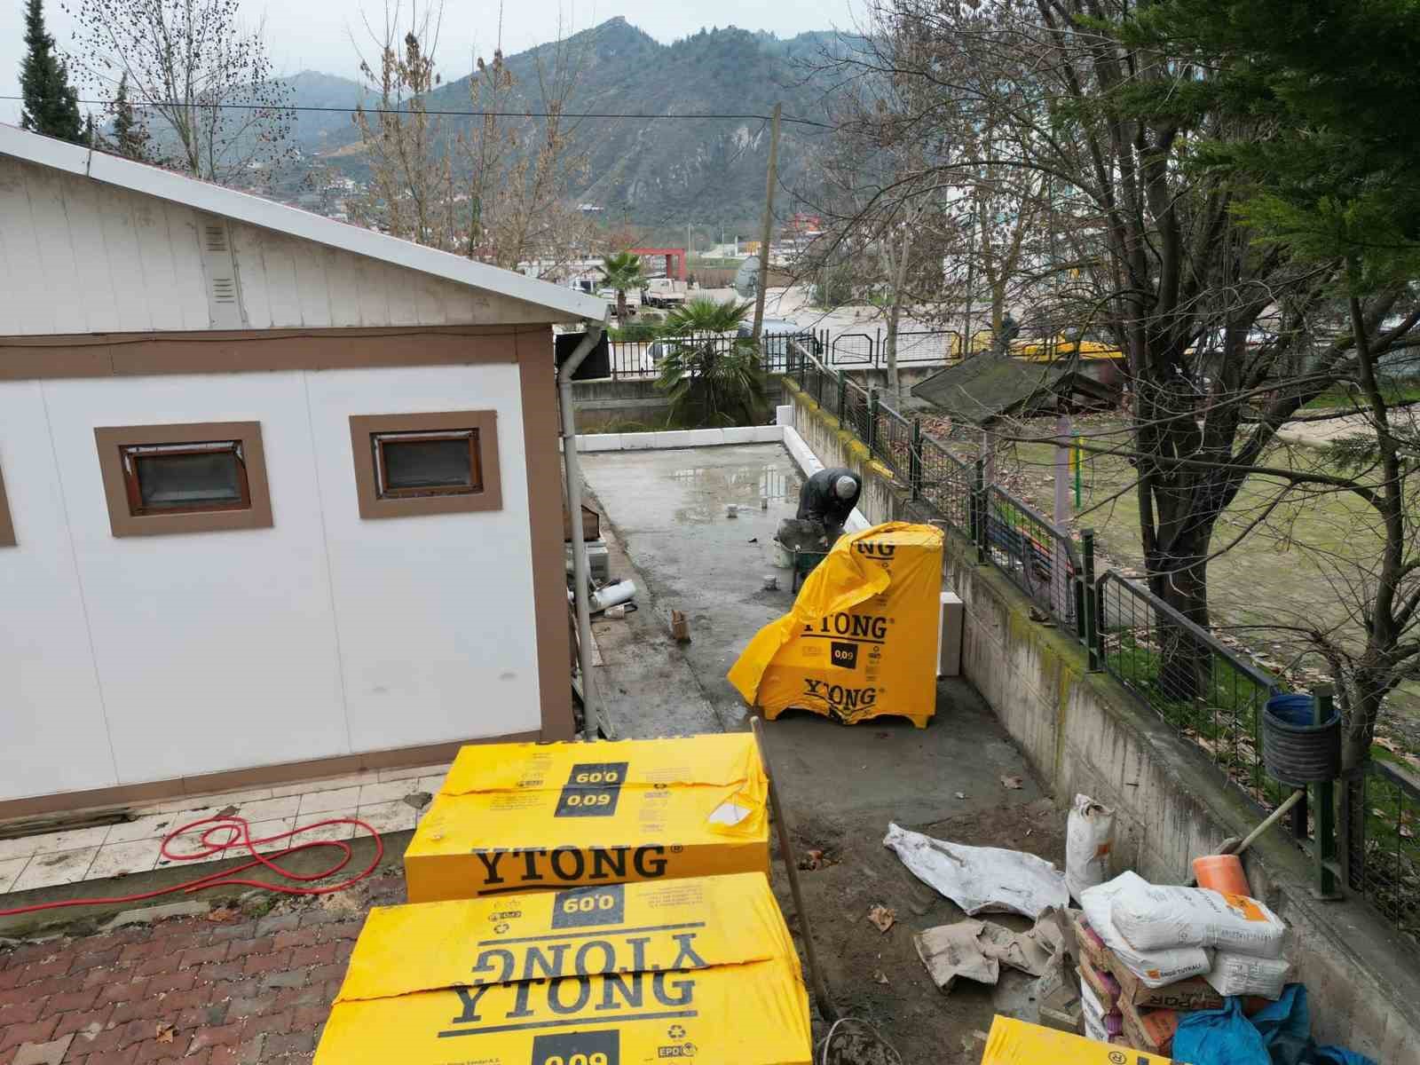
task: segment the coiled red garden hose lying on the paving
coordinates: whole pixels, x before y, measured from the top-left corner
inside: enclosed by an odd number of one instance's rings
[[[209,825],[203,829],[199,843],[202,849],[193,853],[176,855],[169,852],[168,846],[178,836],[189,832],[200,825]],[[332,883],[325,888],[305,888],[312,880],[324,880],[327,876],[334,876],[341,869],[344,869],[351,858],[354,856],[354,849],[349,841],[345,839],[311,839],[305,843],[295,843],[293,846],[285,846],[281,851],[271,855],[257,853],[258,846],[266,846],[267,843],[277,843],[284,839],[291,839],[298,836],[301,832],[314,832],[318,828],[327,825],[355,825],[369,832],[371,838],[375,841],[375,856],[369,859],[369,865],[354,876],[341,880],[339,883]],[[226,839],[217,839],[213,834],[226,832]],[[310,851],[317,846],[334,846],[341,851],[341,858],[329,869],[321,869],[315,873],[297,873],[280,865],[277,859],[285,858],[287,855],[294,855],[300,851]],[[371,828],[368,824],[359,818],[329,818],[328,821],[317,821],[311,825],[301,825],[300,828],[293,828],[290,832],[277,832],[274,836],[266,836],[264,839],[251,838],[251,825],[246,818],[236,815],[216,815],[209,818],[202,818],[200,821],[193,821],[182,828],[175,828],[166,836],[163,836],[162,855],[170,862],[202,862],[214,861],[223,855],[226,851],[246,851],[251,855],[251,861],[239,865],[234,869],[220,869],[214,873],[207,873],[206,876],[199,876],[196,880],[187,880],[186,883],[175,883],[172,888],[159,888],[153,892],[139,892],[136,895],[114,895],[104,899],[64,899],[61,902],[38,902],[33,906],[18,906],[13,910],[0,910],[0,917],[14,917],[21,913],[38,913],[40,910],[58,910],[67,906],[112,906],[128,902],[143,902],[145,899],[156,899],[163,895],[175,895],[182,892],[187,895],[190,892],[202,890],[203,888],[229,888],[229,886],[244,886],[244,888],[264,888],[268,892],[277,892],[278,895],[331,895],[332,892],[341,892],[346,888],[359,883],[379,865],[379,859],[385,856],[385,841],[379,838],[379,832]],[[254,869],[256,866],[264,866],[275,873],[278,878],[285,880],[294,880],[295,883],[266,883],[263,880],[251,880],[237,873],[243,873],[247,869]]]

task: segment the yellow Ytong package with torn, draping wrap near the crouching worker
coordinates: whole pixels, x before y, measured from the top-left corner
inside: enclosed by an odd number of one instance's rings
[[[730,669],[770,720],[790,707],[852,724],[896,714],[919,728],[937,706],[941,531],[900,521],[839,538]]]

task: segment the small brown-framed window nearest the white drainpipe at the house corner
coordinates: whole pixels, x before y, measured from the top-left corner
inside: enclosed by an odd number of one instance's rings
[[[351,417],[362,518],[501,510],[497,413]]]

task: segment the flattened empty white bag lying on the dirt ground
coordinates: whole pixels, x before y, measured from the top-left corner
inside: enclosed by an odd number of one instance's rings
[[[963,846],[888,825],[883,846],[913,875],[968,914],[1021,913],[1032,920],[1051,906],[1065,909],[1065,878],[1044,858],[994,846]]]

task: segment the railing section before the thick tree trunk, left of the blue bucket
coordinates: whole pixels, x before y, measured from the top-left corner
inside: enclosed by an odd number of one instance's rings
[[[1095,582],[1095,605],[1099,667],[1267,809],[1291,794],[1262,770],[1262,706],[1274,677],[1113,571]]]

